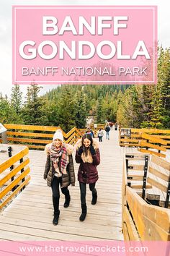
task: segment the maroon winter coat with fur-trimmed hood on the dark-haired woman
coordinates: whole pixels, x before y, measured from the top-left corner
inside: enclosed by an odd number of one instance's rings
[[[91,184],[97,182],[99,179],[97,166],[100,163],[100,153],[97,140],[93,139],[93,146],[96,150],[95,155],[91,155],[90,151],[85,157],[83,154],[78,155],[79,147],[81,146],[81,140],[78,142],[78,147],[76,149],[76,163],[80,163],[78,180],[82,183]]]

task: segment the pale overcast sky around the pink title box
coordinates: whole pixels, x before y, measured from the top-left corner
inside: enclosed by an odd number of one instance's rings
[[[0,8],[0,92],[11,95],[12,90],[12,5],[157,5],[158,41],[164,48],[170,47],[169,0],[1,0]],[[22,85],[26,92],[27,85]],[[54,88],[43,86],[42,93]]]

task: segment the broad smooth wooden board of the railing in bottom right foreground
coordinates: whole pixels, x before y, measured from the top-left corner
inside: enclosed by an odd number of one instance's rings
[[[126,187],[125,197],[141,240],[170,240],[170,212],[168,209],[148,205],[132,188],[128,186]]]

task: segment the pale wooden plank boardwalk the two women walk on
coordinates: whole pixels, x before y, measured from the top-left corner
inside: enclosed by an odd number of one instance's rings
[[[43,151],[30,150],[30,184],[0,215],[0,239],[6,240],[123,240],[122,235],[122,158],[118,132],[110,132],[110,140],[100,142],[101,163],[98,166],[97,205],[91,205],[87,188],[88,213],[84,222],[81,213],[79,182],[75,163],[76,186],[70,187],[71,204],[63,208],[61,194],[58,226],[53,226],[51,189],[42,179],[46,156]]]

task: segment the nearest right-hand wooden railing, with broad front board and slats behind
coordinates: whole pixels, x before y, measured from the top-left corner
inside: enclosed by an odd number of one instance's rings
[[[140,153],[135,155],[137,157],[136,159],[130,159],[136,162],[137,160],[143,160],[143,157],[146,156]],[[160,161],[158,161],[158,157],[156,156],[152,156],[152,158],[155,158],[153,161],[159,165],[169,168],[170,173],[169,163],[161,158]],[[141,166],[140,163],[139,167],[135,165],[135,168],[138,171],[143,168],[143,166]],[[145,170],[145,168],[143,168],[143,170]],[[153,168],[150,171],[152,174],[154,171],[155,175],[159,175],[158,177],[161,175],[160,172],[158,174],[158,171],[153,170]],[[163,176],[161,176],[161,178],[162,177]],[[169,179],[166,175],[166,180],[167,178]],[[143,179],[143,182],[144,181],[145,179]],[[122,178],[122,231],[125,241],[170,241],[170,210],[155,205],[149,205],[146,200],[143,200],[143,198],[138,195],[139,192],[136,192],[136,189],[139,190],[143,186],[140,184],[132,186],[129,182],[131,183],[131,179],[129,179],[127,175],[127,158],[125,157]],[[155,185],[159,189],[164,189],[165,187],[161,187],[161,184],[158,184],[158,182],[154,184],[153,182],[149,184],[149,182],[151,182],[151,179],[148,179],[146,183],[146,188],[148,189],[151,189]],[[166,190],[167,189],[168,187],[166,187]]]

